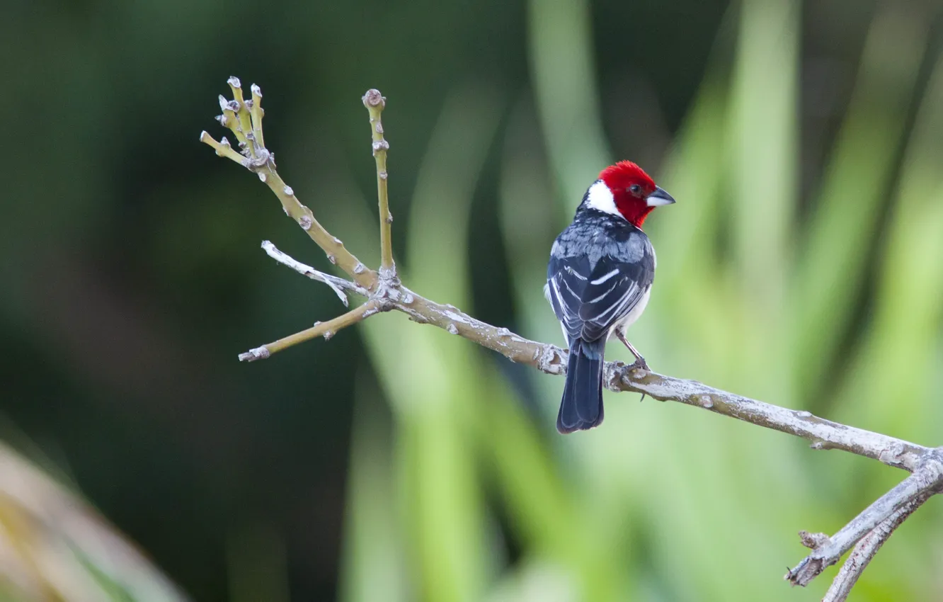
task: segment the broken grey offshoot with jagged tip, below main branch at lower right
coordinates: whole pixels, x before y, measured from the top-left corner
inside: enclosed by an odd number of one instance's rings
[[[893,489],[879,497],[877,501],[854,517],[852,522],[842,527],[835,535],[825,538],[823,544],[819,545],[795,568],[786,573],[784,578],[793,585],[808,585],[812,579],[819,576],[825,567],[835,564],[845,552],[852,549],[852,546],[869,531],[873,532],[876,527],[894,517],[905,507],[913,505],[921,498],[926,499],[926,497],[933,495],[939,490],[941,484],[943,484],[943,451],[940,449],[930,450],[913,475],[903,479]],[[919,501],[917,506],[922,503],[922,501]],[[903,514],[900,522],[909,514],[909,511]],[[876,552],[877,549],[875,548],[874,551]]]

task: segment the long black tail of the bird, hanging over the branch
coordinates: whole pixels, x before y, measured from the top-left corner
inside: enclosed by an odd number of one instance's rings
[[[561,433],[587,430],[603,423],[603,352],[605,339],[570,344],[567,384],[563,387],[556,429]]]

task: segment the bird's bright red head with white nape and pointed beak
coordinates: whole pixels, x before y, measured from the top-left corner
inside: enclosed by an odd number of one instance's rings
[[[587,192],[589,207],[618,213],[637,227],[642,226],[652,209],[673,202],[671,195],[655,186],[652,178],[632,161],[606,167]]]

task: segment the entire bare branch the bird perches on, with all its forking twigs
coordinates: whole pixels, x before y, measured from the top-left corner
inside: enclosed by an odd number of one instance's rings
[[[332,236],[315,219],[311,209],[302,205],[294,191],[279,176],[273,153],[265,146],[262,131],[262,92],[252,85],[252,97],[243,97],[240,80],[230,77],[232,100],[220,96],[222,114],[216,119],[227,127],[239,144],[232,147],[223,138],[217,142],[206,131],[200,141],[211,146],[220,157],[239,163],[255,173],[266,184],[282,205],[282,209],[302,227],[307,236],[324,251],[327,259],[337,265],[350,279],[332,276],[316,270],[279,251],[272,242],[262,242],[262,248],[279,263],[303,276],[323,282],[349,307],[348,293],[365,297],[366,301],[326,322],[266,343],[240,354],[241,361],[264,360],[273,353],[297,343],[317,337],[331,339],[341,328],[353,326],[373,314],[397,310],[419,324],[438,326],[473,343],[497,351],[511,361],[533,366],[550,375],[564,375],[567,371],[567,351],[553,344],[529,341],[507,328],[491,326],[451,305],[438,304],[407,289],[396,273],[393,260],[389,211],[387,155],[389,142],[382,122],[386,98],[379,91],[368,90],[362,97],[370,115],[371,150],[376,164],[376,187],[380,229],[380,266],[374,271],[348,251],[343,242]],[[835,564],[852,550],[848,560],[835,577],[826,602],[845,600],[857,578],[871,558],[894,529],[935,493],[943,489],[943,447],[930,448],[871,432],[853,426],[841,425],[814,416],[804,410],[789,410],[769,403],[750,399],[736,393],[721,391],[703,383],[659,375],[635,365],[606,362],[604,383],[611,391],[644,393],[660,401],[675,401],[702,410],[712,411],[764,426],[810,442],[816,450],[839,449],[888,466],[902,468],[912,474],[882,495],[852,521],[828,537],[824,533],[800,532],[802,544],[812,552],[786,573],[793,585],[807,585],[828,566]]]

